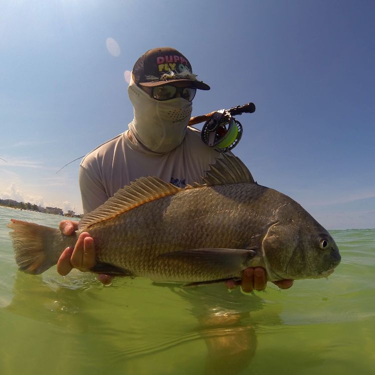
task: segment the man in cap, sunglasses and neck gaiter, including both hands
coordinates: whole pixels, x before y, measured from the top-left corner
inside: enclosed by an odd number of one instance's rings
[[[96,148],[81,163],[79,180],[85,213],[142,176],[158,176],[179,187],[200,181],[204,171],[220,157],[202,143],[200,132],[187,127],[196,90],[210,87],[197,80],[185,56],[169,47],[149,50],[137,60],[131,77],[128,94],[134,119],[129,130]],[[70,235],[77,225],[65,220],[60,229]],[[94,240],[85,232],[74,249],[65,249],[57,269],[66,275],[72,268],[89,271],[94,265]],[[98,278],[105,284],[111,282],[109,275]],[[263,290],[265,270],[246,269],[240,283],[244,292]],[[292,280],[275,284],[285,289]],[[235,283],[228,282],[227,286],[233,288]]]

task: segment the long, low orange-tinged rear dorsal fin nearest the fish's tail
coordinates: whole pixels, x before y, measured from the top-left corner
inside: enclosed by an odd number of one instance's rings
[[[181,190],[159,177],[141,177],[119,189],[104,204],[86,214],[80,221],[79,228],[88,230],[90,225],[99,221],[111,219],[144,203],[176,194]]]

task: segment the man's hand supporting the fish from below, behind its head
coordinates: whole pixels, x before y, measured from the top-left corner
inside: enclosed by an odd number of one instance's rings
[[[279,280],[273,281],[281,289],[288,289],[293,285],[293,280]],[[235,288],[237,285],[241,285],[241,289],[245,293],[250,293],[255,290],[264,290],[267,284],[266,271],[262,267],[250,267],[243,271],[242,280],[226,281],[226,286],[230,289]]]

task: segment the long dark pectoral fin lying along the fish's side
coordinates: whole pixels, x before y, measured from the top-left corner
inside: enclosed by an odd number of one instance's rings
[[[173,267],[184,267],[198,273],[218,275],[226,279],[251,266],[256,255],[254,250],[202,248],[173,251],[160,255]]]

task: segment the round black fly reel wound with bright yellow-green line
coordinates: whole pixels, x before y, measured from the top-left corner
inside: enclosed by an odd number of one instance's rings
[[[232,115],[222,109],[216,111],[205,122],[201,133],[202,141],[219,152],[231,151],[242,137],[242,125]]]

